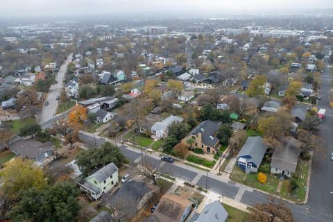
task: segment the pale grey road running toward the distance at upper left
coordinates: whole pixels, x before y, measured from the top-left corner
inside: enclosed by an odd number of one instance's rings
[[[50,91],[47,94],[47,97],[45,99],[45,101],[49,101],[49,105],[44,105],[44,108],[40,115],[41,123],[49,121],[49,119],[52,119],[53,114],[56,113],[57,106],[58,106],[58,100],[56,100],[56,96],[57,95],[60,96],[61,89],[63,86],[62,80],[66,74],[67,65],[69,64],[69,62],[71,62],[72,58],[73,58],[73,54],[69,54],[69,56],[67,56],[67,59],[60,67],[60,70],[58,71],[58,74],[56,76],[58,83],[55,85],[51,85],[51,87],[50,87]]]

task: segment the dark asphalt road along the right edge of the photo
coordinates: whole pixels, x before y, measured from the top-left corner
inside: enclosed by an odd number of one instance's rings
[[[333,194],[330,193],[333,191],[333,161],[330,160],[333,152],[333,110],[328,97],[330,80],[330,69],[326,67],[321,78],[321,100],[318,101],[318,108],[326,109],[320,132],[325,143],[322,151],[314,152],[307,207],[318,214],[330,216],[330,221],[333,221]]]

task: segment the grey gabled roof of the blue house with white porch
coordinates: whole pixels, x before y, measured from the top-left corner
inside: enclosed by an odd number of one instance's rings
[[[264,139],[262,137],[248,137],[246,143],[239,151],[237,157],[242,157],[246,155],[250,155],[250,161],[260,165],[262,162],[262,158],[264,157],[267,150],[267,146],[264,143]]]

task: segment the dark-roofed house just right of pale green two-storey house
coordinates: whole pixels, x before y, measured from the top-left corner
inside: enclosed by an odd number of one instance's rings
[[[146,182],[129,180],[111,197],[110,205],[117,214],[133,218],[159,191]]]

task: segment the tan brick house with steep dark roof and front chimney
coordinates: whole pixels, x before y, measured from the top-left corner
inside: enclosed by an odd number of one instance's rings
[[[205,153],[215,154],[219,150],[220,141],[214,135],[219,130],[221,123],[210,120],[202,121],[196,128],[182,139],[181,143],[188,146],[189,139],[194,140],[190,146],[202,148]]]

